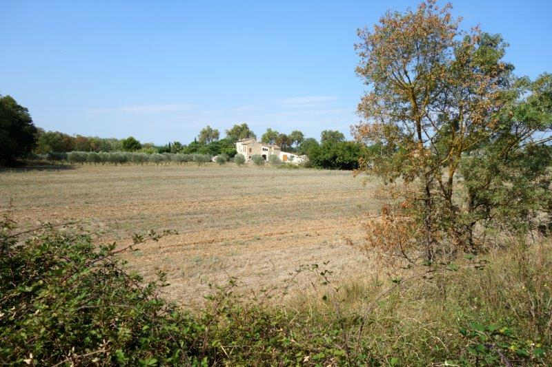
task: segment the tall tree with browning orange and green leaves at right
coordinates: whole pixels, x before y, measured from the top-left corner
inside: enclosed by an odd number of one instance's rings
[[[363,167],[386,182],[403,179],[403,201],[393,207],[399,216],[386,207],[391,221],[384,225],[408,226],[401,245],[423,244],[430,263],[477,251],[475,225],[498,220],[507,198],[520,198],[509,218],[531,213],[529,203],[544,195],[535,185],[546,167],[538,165],[528,180],[522,176],[531,167],[529,152],[539,151],[535,132],[550,131],[548,87],[515,81],[513,66],[502,61],[500,35],[459,30],[450,8],[429,0],[414,11],[388,12],[372,32],[359,30],[356,45],[357,74],[370,92],[359,103],[365,120],[355,136],[381,147]],[[467,194],[456,185],[460,171],[468,175]],[[505,185],[515,178],[522,186]]]

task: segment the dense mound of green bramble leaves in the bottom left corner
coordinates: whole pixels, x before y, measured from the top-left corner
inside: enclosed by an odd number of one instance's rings
[[[144,284],[115,244],[89,235],[46,230],[19,241],[10,221],[1,228],[0,364],[193,362],[201,326],[159,298],[163,275]]]

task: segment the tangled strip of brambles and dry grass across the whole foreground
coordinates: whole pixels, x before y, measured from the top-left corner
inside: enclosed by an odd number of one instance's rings
[[[5,366],[551,365],[550,242],[408,276],[333,282],[327,264],[297,269],[317,291],[244,301],[235,282],[182,310],[79,231],[0,236],[0,364]],[[28,234],[28,233],[27,233]]]

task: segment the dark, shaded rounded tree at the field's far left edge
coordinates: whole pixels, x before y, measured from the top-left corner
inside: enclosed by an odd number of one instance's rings
[[[0,95],[0,164],[29,154],[36,144],[37,128],[29,110],[11,96]]]

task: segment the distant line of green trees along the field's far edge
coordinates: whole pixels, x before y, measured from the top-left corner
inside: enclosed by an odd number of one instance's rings
[[[218,129],[207,125],[188,144],[171,141],[166,145],[141,143],[133,136],[125,139],[99,138],[97,136],[71,136],[63,132],[45,131],[37,128],[26,107],[11,96],[0,96],[0,161],[10,165],[18,158],[48,158],[70,162],[159,162],[177,159],[180,162],[193,160],[190,155],[219,156],[233,158],[237,151],[235,143],[244,138],[257,138],[246,123],[236,124],[226,130],[220,138]],[[305,138],[303,132],[294,130],[290,134],[278,132],[270,127],[262,134],[262,143],[275,144],[282,151],[308,156],[309,167],[323,169],[357,169],[359,159],[365,152],[362,143],[347,141],[344,134],[335,130],[324,130],[320,140]],[[71,154],[70,152],[80,152]],[[115,153],[120,154],[115,154]],[[157,154],[155,156],[134,155]],[[92,153],[111,153],[101,156]],[[159,154],[180,154],[179,158],[166,158]],[[182,156],[184,154],[185,156]],[[101,157],[101,158],[100,158]],[[202,158],[204,159],[204,158]]]

